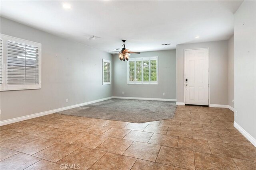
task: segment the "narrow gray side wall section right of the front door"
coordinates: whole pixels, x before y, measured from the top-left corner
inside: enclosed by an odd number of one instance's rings
[[[234,36],[228,40],[228,105],[234,108]]]

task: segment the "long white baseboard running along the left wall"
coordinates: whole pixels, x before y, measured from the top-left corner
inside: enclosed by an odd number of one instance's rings
[[[49,114],[52,114],[52,113],[56,113],[58,111],[63,111],[63,110],[68,110],[68,109],[72,109],[72,108],[75,108],[75,107],[80,107],[80,106],[84,106],[84,105],[88,105],[88,104],[93,104],[93,103],[96,103],[96,102],[101,102],[101,101],[112,99],[112,98],[113,97],[102,98],[102,99],[93,100],[93,101],[90,101],[90,102],[75,104],[75,105],[72,105],[72,106],[66,106],[66,107],[62,107],[62,108],[58,108],[58,109],[53,109],[53,110],[43,111],[43,112],[40,112],[40,113],[35,113],[35,114],[26,115],[26,116],[22,116],[22,117],[17,117],[17,118],[13,118],[13,119],[3,120],[3,121],[0,121],[0,126],[7,125],[7,124],[10,124],[10,123],[15,123],[15,122],[18,122],[18,121],[24,121],[24,120],[27,120],[27,119],[32,119],[32,118],[35,118],[35,117],[40,117],[40,116],[43,116],[43,115],[49,115]]]

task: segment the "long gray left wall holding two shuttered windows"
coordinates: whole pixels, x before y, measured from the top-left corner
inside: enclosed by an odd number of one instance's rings
[[[112,55],[6,18],[1,33],[42,43],[42,89],[1,92],[1,120],[112,96],[102,85],[102,58]]]

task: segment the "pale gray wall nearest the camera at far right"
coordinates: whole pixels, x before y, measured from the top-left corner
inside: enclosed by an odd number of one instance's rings
[[[256,139],[256,2],[244,1],[235,13],[235,122]]]

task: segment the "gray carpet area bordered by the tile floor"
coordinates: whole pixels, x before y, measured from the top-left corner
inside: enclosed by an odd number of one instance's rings
[[[98,119],[143,123],[148,121],[172,119],[176,107],[175,102],[110,99],[57,113]]]

